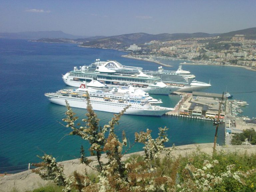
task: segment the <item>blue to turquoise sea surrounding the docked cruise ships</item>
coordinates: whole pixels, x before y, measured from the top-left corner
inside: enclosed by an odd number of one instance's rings
[[[88,141],[78,136],[69,136],[65,127],[66,107],[50,103],[45,93],[69,88],[62,81],[62,74],[74,66],[88,65],[96,59],[116,60],[123,65],[139,66],[157,70],[154,62],[122,57],[128,52],[110,49],[82,48],[77,44],[41,43],[19,39],[0,39],[0,173],[16,173],[28,169],[29,163],[40,162],[38,156],[53,155],[57,161],[79,158],[81,145],[89,156]],[[159,59],[177,70],[185,60]],[[216,65],[183,65],[198,81],[209,82],[211,87],[204,92],[230,92],[233,99],[247,101],[242,108],[243,116],[256,117],[256,71],[241,67]],[[162,106],[174,107],[178,95],[152,95],[163,101]],[[73,108],[79,117],[85,118],[86,109]],[[104,126],[113,117],[112,113],[96,111],[100,125]],[[170,147],[186,144],[213,143],[215,126],[207,120],[173,116],[149,117],[123,115],[115,126],[120,137],[125,131],[128,145],[134,143],[134,133],[152,130],[156,138],[159,127],[167,127]],[[224,125],[218,130],[217,143],[224,144]],[[135,144],[129,152],[141,151],[143,145]],[[128,149],[128,148],[126,148]]]

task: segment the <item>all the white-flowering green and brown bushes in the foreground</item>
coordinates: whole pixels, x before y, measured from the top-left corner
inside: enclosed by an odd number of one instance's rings
[[[67,117],[63,119],[70,127],[70,135],[79,135],[90,143],[91,155],[97,157],[98,166],[81,156],[81,162],[98,171],[98,176],[74,172],[72,176],[63,173],[63,166],[55,158],[45,154],[44,162],[37,164],[35,170],[43,179],[52,180],[63,186],[64,192],[75,189],[79,192],[204,192],[204,191],[256,191],[256,155],[238,154],[206,155],[197,152],[189,157],[171,158],[171,150],[164,148],[168,141],[166,128],[159,128],[158,138],[151,137],[151,131],[135,133],[135,141],[143,143],[145,155],[133,156],[126,161],[121,158],[123,146],[127,144],[125,133],[119,141],[114,125],[126,109],[114,115],[108,125],[99,126],[99,119],[91,108],[89,99],[86,126],[75,126],[75,117],[67,104]],[[105,138],[105,135],[108,137]],[[101,162],[102,152],[106,153],[108,162]],[[164,154],[164,158],[160,158]]]

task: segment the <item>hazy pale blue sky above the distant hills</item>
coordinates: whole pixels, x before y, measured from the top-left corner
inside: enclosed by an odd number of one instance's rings
[[[256,27],[256,0],[0,0],[0,32],[226,33]]]

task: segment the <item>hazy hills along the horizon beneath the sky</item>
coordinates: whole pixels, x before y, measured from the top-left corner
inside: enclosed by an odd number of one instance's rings
[[[85,47],[98,47],[110,49],[122,49],[131,44],[144,44],[152,40],[170,41],[189,38],[206,38],[219,36],[218,41],[228,40],[236,34],[242,34],[246,39],[256,39],[256,27],[222,34],[209,33],[162,33],[157,35],[147,33],[131,33],[116,36],[75,36],[62,31],[38,31],[20,33],[0,33],[0,38],[30,39],[38,42],[54,43],[79,43]]]

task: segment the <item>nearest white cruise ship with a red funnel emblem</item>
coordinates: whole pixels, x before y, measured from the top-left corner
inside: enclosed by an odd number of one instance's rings
[[[87,93],[90,96],[92,108],[96,111],[119,113],[126,106],[131,105],[125,114],[161,116],[173,110],[173,108],[152,106],[149,98],[144,95],[130,94],[118,88],[112,90],[86,88],[86,84],[81,84],[78,89],[63,89],[56,93],[46,93],[45,96],[58,105],[65,106],[65,101],[67,101],[71,107],[86,109]]]

